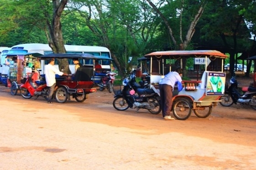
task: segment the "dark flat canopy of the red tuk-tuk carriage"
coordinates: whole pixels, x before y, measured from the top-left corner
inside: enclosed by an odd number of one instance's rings
[[[87,58],[87,59],[97,59],[91,54],[88,53],[80,53],[80,54],[69,54],[69,53],[57,53],[57,54],[46,54],[40,56],[40,58]]]

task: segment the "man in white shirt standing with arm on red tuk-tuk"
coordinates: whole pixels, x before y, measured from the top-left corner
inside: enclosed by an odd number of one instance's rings
[[[54,58],[49,59],[48,65],[45,66],[45,79],[46,79],[46,85],[49,87],[49,96],[47,99],[47,103],[52,103],[52,95],[54,92],[54,88],[56,85],[56,79],[55,74],[58,74],[60,76],[68,76],[68,74],[60,72],[57,68],[54,66]]]

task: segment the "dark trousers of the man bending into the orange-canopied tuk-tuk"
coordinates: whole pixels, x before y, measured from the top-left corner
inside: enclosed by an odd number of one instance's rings
[[[162,107],[162,116],[169,116],[172,110],[172,86],[160,84],[160,98]]]

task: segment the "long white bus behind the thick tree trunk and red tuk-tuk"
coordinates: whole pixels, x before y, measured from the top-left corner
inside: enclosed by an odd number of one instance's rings
[[[106,56],[111,58],[110,50],[103,46],[76,46],[76,45],[65,45],[65,49],[67,53],[89,53],[94,56]],[[40,54],[49,54],[52,53],[52,49],[48,44],[38,44],[38,43],[32,43],[32,44],[19,44],[16,46],[12,46],[9,50],[8,54],[12,53],[40,53]],[[70,59],[68,61],[69,63],[69,69],[72,73],[74,73],[74,64],[73,61]],[[92,65],[93,62],[86,60],[86,61],[80,61],[83,65]],[[47,64],[46,61],[41,62],[41,74],[44,74],[43,68],[44,65]],[[110,61],[109,60],[101,60],[99,61],[99,64],[101,64],[102,68],[108,68],[110,69]],[[55,67],[58,68],[57,64]]]

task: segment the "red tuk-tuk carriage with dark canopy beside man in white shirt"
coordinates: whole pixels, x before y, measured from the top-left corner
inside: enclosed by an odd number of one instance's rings
[[[41,62],[49,58],[63,59],[67,58],[72,60],[78,58],[79,60],[93,59],[91,54],[47,54],[40,56]],[[94,67],[79,67],[74,76],[62,76],[56,78],[56,90],[54,98],[58,103],[65,103],[68,98],[75,98],[78,102],[84,102],[86,95],[89,93],[95,93],[96,88],[93,88],[94,82],[91,80],[94,75]],[[44,76],[42,76],[44,77]]]

